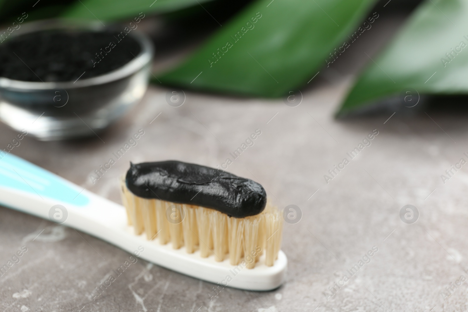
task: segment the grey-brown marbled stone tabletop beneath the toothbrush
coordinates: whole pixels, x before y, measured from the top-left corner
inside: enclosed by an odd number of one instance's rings
[[[375,51],[369,43],[384,39],[380,33],[366,40],[363,46]],[[467,168],[445,183],[441,179],[461,158],[467,160],[467,116],[388,113],[335,120],[366,61],[359,49],[349,51],[341,67],[317,76],[294,108],[282,100],[189,91],[174,108],[165,101],[168,89],[153,86],[100,138],[39,142],[27,136],[12,151],[120,203],[117,178],[130,161],[177,159],[215,167],[260,129],[255,145],[228,171],[261,182],[280,208],[295,204],[302,211],[300,222],[285,224],[282,249],[289,265],[279,289],[225,288],[211,300],[212,284],[139,260],[93,301],[95,286],[129,254],[0,207],[0,264],[27,248],[0,276],[1,311],[467,311],[467,283],[461,281],[468,276]],[[138,145],[93,184],[93,171],[139,129],[144,135]],[[350,159],[347,152],[377,131]],[[14,136],[0,125],[2,147]],[[327,183],[324,175],[344,158],[349,164]],[[400,218],[407,204],[417,207],[416,223]]]

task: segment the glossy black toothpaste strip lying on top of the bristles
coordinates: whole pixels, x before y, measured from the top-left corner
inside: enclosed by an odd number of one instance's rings
[[[235,218],[257,215],[266,205],[257,182],[176,160],[131,163],[125,182],[139,197],[212,208]]]

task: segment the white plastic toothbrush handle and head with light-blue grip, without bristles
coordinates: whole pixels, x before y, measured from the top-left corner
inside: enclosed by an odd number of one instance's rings
[[[229,259],[202,258],[198,250],[189,254],[183,248],[173,249],[170,244],[148,240],[145,233],[136,235],[122,205],[13,154],[0,157],[3,206],[86,232],[129,253],[144,249],[139,257],[146,261],[224,287],[273,290],[284,283],[287,258],[281,250],[272,266],[265,265],[263,255],[249,269],[242,263],[231,265]]]

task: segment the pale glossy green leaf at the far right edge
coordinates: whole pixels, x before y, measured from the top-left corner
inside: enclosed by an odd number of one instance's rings
[[[338,116],[409,88],[418,94],[467,94],[468,1],[424,2],[387,49],[369,62]]]

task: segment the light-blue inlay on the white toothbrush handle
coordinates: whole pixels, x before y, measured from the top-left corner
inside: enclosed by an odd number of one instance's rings
[[[39,194],[41,197],[49,197],[76,206],[89,203],[87,196],[64,183],[59,176],[13,154],[1,156],[3,158],[0,160],[0,187]]]

